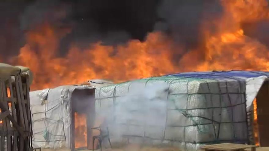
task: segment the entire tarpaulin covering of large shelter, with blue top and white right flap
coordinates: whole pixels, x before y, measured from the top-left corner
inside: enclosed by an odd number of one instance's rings
[[[252,104],[267,75],[193,72],[101,87],[95,91],[96,117],[106,119],[112,146],[141,143],[195,150],[201,144],[247,143],[246,107]],[[158,82],[168,85],[162,99],[158,99],[160,92],[154,92]],[[166,92],[165,86],[159,88]],[[160,105],[160,100],[166,105]]]

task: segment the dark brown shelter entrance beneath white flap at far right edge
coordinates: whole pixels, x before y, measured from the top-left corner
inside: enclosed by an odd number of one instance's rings
[[[269,146],[269,81],[265,81],[256,97],[258,139],[261,147]]]

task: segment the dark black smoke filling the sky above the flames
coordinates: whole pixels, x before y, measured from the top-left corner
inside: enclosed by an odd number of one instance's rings
[[[143,41],[154,30],[168,34],[187,52],[203,44],[199,28],[202,20],[214,20],[221,15],[219,0],[2,0],[0,59],[6,62],[9,56],[17,55],[27,31],[44,23],[71,29],[61,39],[60,56],[74,42],[81,47],[96,41],[104,45],[124,44],[130,39]],[[259,22],[242,26],[246,34],[267,44],[267,25],[268,22]],[[175,59],[180,55],[175,53]]]

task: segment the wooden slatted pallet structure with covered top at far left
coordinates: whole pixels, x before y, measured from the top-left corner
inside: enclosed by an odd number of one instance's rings
[[[29,76],[10,65],[0,71],[0,151],[31,151]]]

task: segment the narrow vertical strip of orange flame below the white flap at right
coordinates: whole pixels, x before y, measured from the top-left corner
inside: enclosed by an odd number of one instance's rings
[[[258,114],[257,114],[257,99],[253,101],[253,132],[254,132],[254,142],[256,146],[260,146],[259,141],[259,127],[258,127]]]

